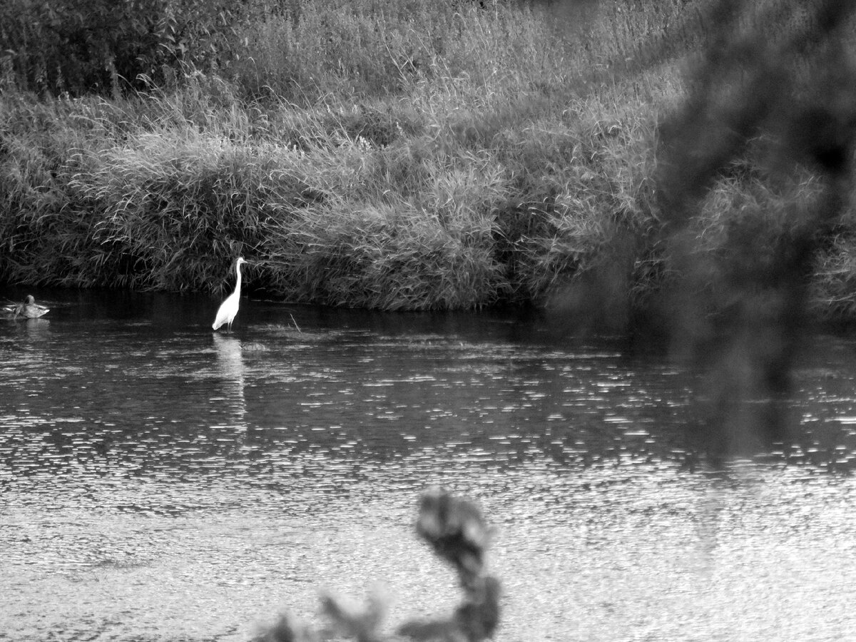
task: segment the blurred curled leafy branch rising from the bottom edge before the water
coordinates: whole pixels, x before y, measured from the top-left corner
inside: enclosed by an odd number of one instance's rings
[[[325,594],[322,612],[329,629],[315,631],[292,615],[282,615],[255,642],[320,642],[356,639],[358,642],[391,642],[394,639],[437,642],[480,642],[490,638],[499,623],[499,580],[487,573],[484,555],[490,546],[491,529],[479,508],[445,490],[430,489],[421,497],[416,522],[419,537],[449,562],[458,574],[464,598],[449,617],[407,621],[389,637],[380,631],[386,613],[382,596],[372,593],[365,606]]]

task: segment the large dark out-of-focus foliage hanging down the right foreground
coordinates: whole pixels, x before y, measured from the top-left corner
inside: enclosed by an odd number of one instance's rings
[[[616,203],[598,259],[557,281],[550,301],[563,330],[629,329],[689,364],[703,403],[694,445],[713,461],[769,452],[799,419],[791,373],[810,279],[853,223],[854,9],[703,3],[683,96],[657,117],[651,224],[627,215],[635,203]],[[663,46],[615,73],[658,64]],[[645,280],[662,287],[631,303]]]

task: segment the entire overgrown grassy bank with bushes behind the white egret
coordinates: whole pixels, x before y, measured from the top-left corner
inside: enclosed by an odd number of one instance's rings
[[[684,276],[664,241],[688,205],[662,197],[663,123],[706,81],[690,72],[726,22],[708,4],[113,4],[0,9],[0,282],[222,296],[243,255],[251,290],[282,300],[597,300],[592,318],[622,325]],[[829,60],[809,37],[827,27],[806,3],[754,4],[742,33],[808,34],[782,68],[788,99],[811,98]],[[763,254],[817,207],[828,176],[776,169],[783,135],[746,134],[681,212],[693,265],[745,258],[750,230]],[[823,234],[810,308],[856,318],[852,206]]]

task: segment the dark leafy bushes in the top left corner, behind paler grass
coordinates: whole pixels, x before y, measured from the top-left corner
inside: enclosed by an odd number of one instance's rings
[[[125,92],[184,66],[227,67],[252,0],[59,0],[0,3],[0,69],[21,89]]]

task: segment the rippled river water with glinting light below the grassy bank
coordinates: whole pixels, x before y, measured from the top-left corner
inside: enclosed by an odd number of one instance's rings
[[[8,296],[23,298],[13,290]],[[711,465],[691,377],[517,313],[35,291],[0,322],[0,640],[244,640],[319,591],[443,615],[441,485],[496,527],[500,642],[852,639],[856,337],[800,419]]]

